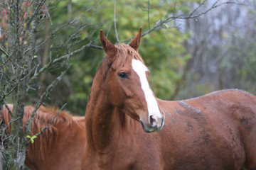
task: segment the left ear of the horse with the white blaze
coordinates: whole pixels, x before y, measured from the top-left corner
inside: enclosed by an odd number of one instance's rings
[[[115,47],[109,40],[107,40],[103,30],[100,30],[100,41],[102,43],[103,50],[106,52],[107,57],[112,62],[115,55],[117,55],[117,47]]]

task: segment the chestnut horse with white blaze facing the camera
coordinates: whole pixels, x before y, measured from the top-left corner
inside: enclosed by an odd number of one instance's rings
[[[141,34],[112,45],[100,31],[106,57],[87,103],[82,169],[256,169],[256,97],[223,90],[156,98],[138,53]]]

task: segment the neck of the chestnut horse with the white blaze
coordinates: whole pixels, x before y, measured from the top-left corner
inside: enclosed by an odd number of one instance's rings
[[[105,78],[107,75],[107,62],[102,61],[95,79],[92,83],[90,99],[87,103],[85,113],[85,129],[87,147],[97,152],[106,150],[114,136],[117,136],[120,126],[124,129],[124,122],[129,121],[129,116],[120,113],[118,108],[114,108],[105,94]]]

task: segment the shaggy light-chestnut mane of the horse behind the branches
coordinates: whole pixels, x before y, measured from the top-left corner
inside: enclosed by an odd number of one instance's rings
[[[12,111],[13,106],[8,105]],[[34,111],[33,106],[26,106],[24,108],[23,115],[23,125],[28,123],[28,120],[31,118],[31,114]],[[54,107],[46,108],[41,106],[36,111],[36,115],[33,118],[30,135],[36,135],[41,132],[43,128],[53,120],[54,116],[58,113],[58,109]],[[4,121],[4,124],[7,125],[11,121],[11,115],[8,113],[7,109],[4,107],[1,112],[1,119]],[[68,111],[60,111],[58,115],[53,120],[53,123],[47,128],[42,135],[36,137],[35,142],[28,145],[27,154],[29,157],[39,157],[44,159],[44,155],[50,151],[50,145],[58,138],[59,130],[58,125],[65,125],[65,127],[70,127],[71,125],[81,128],[78,124],[78,121],[84,121],[84,117],[72,116]],[[8,127],[8,132],[11,127]]]

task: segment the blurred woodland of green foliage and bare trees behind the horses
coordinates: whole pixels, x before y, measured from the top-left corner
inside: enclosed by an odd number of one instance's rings
[[[38,44],[46,40],[35,57],[42,66],[92,42],[70,57],[68,72],[44,103],[47,106],[67,103],[70,113],[84,115],[92,79],[105,55],[100,29],[116,44],[129,43],[140,26],[145,35],[139,53],[151,70],[149,81],[158,98],[180,100],[220,89],[256,94],[254,0],[68,0],[54,1],[47,13],[36,35]],[[35,104],[62,70],[59,64],[41,74],[26,104]]]

